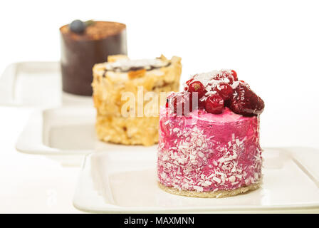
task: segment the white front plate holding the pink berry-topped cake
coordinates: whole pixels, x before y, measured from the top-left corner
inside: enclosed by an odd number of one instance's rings
[[[319,170],[295,155],[319,160],[309,148],[266,148],[263,184],[235,197],[203,199],[171,195],[157,187],[156,150],[100,152],[85,159],[73,203],[88,212],[256,212],[319,209]],[[305,157],[303,157],[305,158]],[[296,161],[295,161],[296,160]],[[303,165],[301,165],[303,163]],[[314,171],[310,175],[309,170]]]

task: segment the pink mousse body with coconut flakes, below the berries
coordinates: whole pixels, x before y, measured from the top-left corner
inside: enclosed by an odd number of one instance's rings
[[[215,192],[261,180],[257,116],[244,117],[228,108],[219,115],[194,110],[176,116],[162,108],[159,135],[157,177],[165,187]]]

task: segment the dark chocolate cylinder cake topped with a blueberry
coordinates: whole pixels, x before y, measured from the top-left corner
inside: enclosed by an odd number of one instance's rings
[[[127,54],[126,26],[111,21],[73,21],[60,28],[63,91],[92,95],[92,68],[110,55]]]

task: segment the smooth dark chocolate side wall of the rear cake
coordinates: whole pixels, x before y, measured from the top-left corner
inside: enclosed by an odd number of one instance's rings
[[[117,33],[102,38],[75,36],[71,31],[61,31],[63,91],[77,95],[92,95],[94,64],[103,63],[108,60],[108,56],[117,54],[127,54],[125,25]]]

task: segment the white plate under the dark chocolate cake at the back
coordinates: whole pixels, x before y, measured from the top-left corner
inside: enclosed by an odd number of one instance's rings
[[[0,105],[92,106],[93,101],[90,96],[62,92],[59,62],[21,62],[9,65],[0,77]]]

